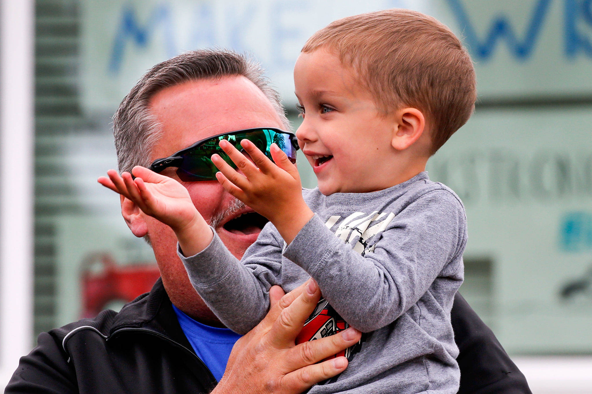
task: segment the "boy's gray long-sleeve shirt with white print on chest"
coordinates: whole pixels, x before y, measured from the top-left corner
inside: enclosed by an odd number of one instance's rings
[[[195,256],[179,253],[208,307],[244,334],[268,311],[272,285],[291,291],[312,276],[369,334],[339,379],[310,393],[455,393],[450,311],[466,244],[456,194],[426,172],[371,193],[303,193],[315,215],[288,246],[268,223],[242,261],[216,235]]]

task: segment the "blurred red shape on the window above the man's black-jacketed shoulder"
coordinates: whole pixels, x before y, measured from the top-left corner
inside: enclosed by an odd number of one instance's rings
[[[156,263],[118,265],[108,253],[92,253],[82,262],[82,317],[122,307],[149,292],[159,276]]]

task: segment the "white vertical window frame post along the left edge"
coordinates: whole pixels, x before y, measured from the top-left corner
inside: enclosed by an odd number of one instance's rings
[[[34,0],[0,0],[0,386],[33,334]]]

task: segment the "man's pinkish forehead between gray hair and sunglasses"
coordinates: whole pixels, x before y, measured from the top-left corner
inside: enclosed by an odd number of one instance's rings
[[[162,127],[154,158],[209,136],[262,126],[282,128],[263,92],[243,76],[185,82],[157,92],[150,109]]]

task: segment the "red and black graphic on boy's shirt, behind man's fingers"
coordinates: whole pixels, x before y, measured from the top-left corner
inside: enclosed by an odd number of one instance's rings
[[[321,298],[314,308],[313,313],[310,314],[304,323],[304,327],[300,334],[296,337],[296,344],[306,341],[314,341],[316,339],[328,337],[339,333],[349,327],[349,324],[329,305],[329,302]],[[348,361],[353,359],[356,353],[362,347],[362,339],[355,345],[342,350],[334,356],[327,357],[327,359],[334,359],[336,357],[345,356]]]

